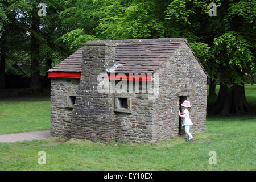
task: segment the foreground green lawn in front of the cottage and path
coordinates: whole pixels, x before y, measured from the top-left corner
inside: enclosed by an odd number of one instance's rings
[[[0,170],[255,170],[255,122],[255,116],[208,118],[207,133],[193,143],[0,143]],[[46,152],[46,165],[38,164],[39,151]],[[216,151],[216,165],[209,165],[209,151]]]

